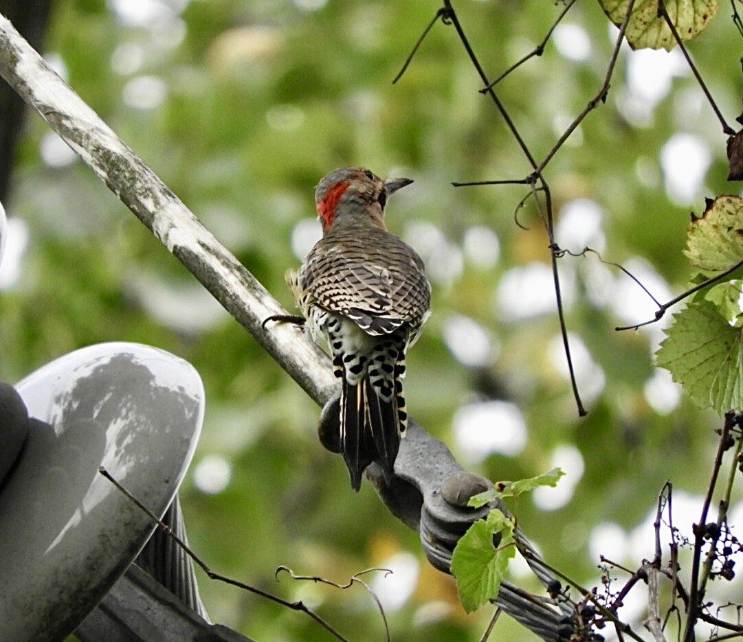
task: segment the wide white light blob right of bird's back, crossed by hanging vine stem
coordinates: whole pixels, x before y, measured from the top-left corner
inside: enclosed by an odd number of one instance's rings
[[[565,309],[575,299],[574,282],[566,276],[567,270],[562,270],[560,286]],[[519,321],[556,312],[551,267],[547,263],[533,261],[507,270],[496,289],[495,303],[496,314],[505,321]]]

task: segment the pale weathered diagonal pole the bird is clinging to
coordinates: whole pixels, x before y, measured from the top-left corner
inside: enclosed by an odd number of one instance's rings
[[[327,357],[290,324],[259,281],[181,203],[0,14],[0,76],[61,136],[227,312],[317,403],[336,382]]]

